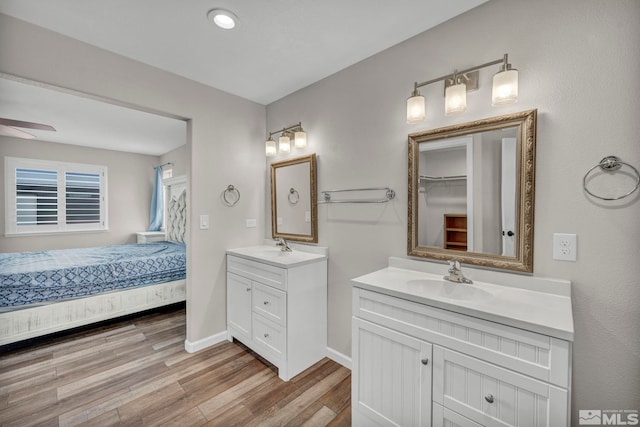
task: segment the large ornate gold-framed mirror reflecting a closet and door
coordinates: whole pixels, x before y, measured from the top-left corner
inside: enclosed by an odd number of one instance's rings
[[[533,272],[536,119],[409,135],[408,255]]]

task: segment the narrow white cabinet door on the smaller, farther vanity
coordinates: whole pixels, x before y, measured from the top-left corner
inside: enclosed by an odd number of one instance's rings
[[[227,273],[227,325],[237,338],[251,339],[251,280]]]

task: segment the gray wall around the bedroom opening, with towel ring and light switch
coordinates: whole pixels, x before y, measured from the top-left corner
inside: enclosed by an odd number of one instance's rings
[[[189,120],[187,147],[174,153],[191,187],[187,339],[224,331],[225,249],[265,234],[265,107],[1,14],[0,71]],[[234,208],[220,199],[229,184],[242,192]],[[208,230],[190,226],[201,214]],[[246,228],[245,218],[258,227]]]

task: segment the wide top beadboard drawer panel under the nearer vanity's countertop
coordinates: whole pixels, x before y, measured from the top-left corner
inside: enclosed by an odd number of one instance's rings
[[[353,315],[560,387],[570,386],[568,341],[357,287]]]

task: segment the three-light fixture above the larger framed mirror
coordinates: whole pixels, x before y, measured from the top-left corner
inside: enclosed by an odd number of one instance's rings
[[[467,68],[453,74],[427,80],[422,83],[415,82],[413,92],[407,99],[407,123],[416,124],[424,120],[426,116],[425,99],[418,88],[445,82],[445,114],[461,113],[467,109],[467,92],[478,88],[478,76],[481,68],[501,64],[499,71],[493,76],[493,89],[491,91],[491,105],[506,105],[518,100],[518,70],[511,68],[508,54],[501,59],[487,62],[486,64]]]

